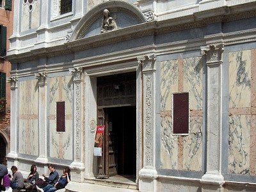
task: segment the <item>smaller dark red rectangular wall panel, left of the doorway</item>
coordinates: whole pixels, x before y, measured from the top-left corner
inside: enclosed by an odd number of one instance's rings
[[[56,102],[56,131],[65,132],[65,101]]]

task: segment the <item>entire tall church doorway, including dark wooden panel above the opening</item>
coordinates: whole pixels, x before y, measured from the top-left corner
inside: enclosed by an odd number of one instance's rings
[[[97,77],[97,125],[105,125],[95,176],[136,175],[136,72]]]

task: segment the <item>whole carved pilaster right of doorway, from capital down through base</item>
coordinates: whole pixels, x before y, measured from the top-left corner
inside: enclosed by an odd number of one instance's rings
[[[155,55],[138,58],[143,75],[143,168],[139,172],[140,191],[157,190],[155,61]]]

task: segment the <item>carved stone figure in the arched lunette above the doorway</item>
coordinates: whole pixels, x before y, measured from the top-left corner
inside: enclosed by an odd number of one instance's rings
[[[116,21],[113,17],[110,17],[109,10],[103,11],[103,19],[100,27],[100,33],[106,33],[108,31],[116,30]]]

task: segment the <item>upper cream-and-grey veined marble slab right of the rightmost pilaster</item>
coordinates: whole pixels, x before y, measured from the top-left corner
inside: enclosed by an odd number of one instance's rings
[[[229,108],[251,107],[251,50],[230,52]]]

